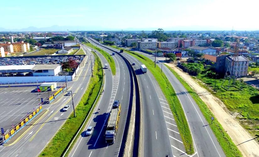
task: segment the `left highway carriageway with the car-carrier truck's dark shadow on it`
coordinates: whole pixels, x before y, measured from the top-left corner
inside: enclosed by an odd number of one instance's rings
[[[87,47],[87,46],[85,46]],[[88,48],[88,51],[90,49]],[[97,51],[96,52],[103,64],[108,63],[106,59]],[[109,51],[108,51],[109,53]],[[110,53],[111,54],[111,53]],[[99,100],[99,114],[93,114],[90,117],[88,126],[94,127],[94,132],[91,136],[85,136],[84,132],[76,141],[73,149],[68,156],[122,156],[124,150],[125,127],[128,120],[129,107],[132,105],[132,73],[128,68],[127,63],[119,56],[112,56],[115,61],[116,75],[112,76],[110,68],[105,71],[105,92]],[[109,66],[110,67],[110,66]],[[108,145],[105,143],[105,131],[108,114],[111,111],[114,100],[121,102],[121,116],[118,131],[116,134],[115,143]],[[96,107],[97,108],[97,107]],[[86,128],[87,128],[86,127]],[[85,129],[86,129],[85,128]],[[124,140],[123,140],[124,139]]]

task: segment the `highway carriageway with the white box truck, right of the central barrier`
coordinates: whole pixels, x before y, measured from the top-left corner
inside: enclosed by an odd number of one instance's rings
[[[97,46],[102,45],[97,44]],[[180,154],[186,156],[174,117],[155,78],[149,71],[146,74],[142,73],[139,68],[141,63],[137,59],[127,53],[121,53],[121,55],[129,62],[136,64],[132,67],[138,78],[143,106],[143,133],[140,135],[143,146],[141,156],[172,155],[172,146],[182,150],[181,153],[174,153],[175,156]]]

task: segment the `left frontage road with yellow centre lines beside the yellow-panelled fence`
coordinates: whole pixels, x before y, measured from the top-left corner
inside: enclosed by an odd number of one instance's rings
[[[84,64],[84,67],[79,69],[76,80],[67,83],[68,88],[76,93],[73,95],[75,105],[83,96],[91,77],[89,53],[87,61],[88,64]],[[70,109],[67,112],[61,112],[65,105],[70,105]],[[43,105],[43,109],[47,109],[48,112],[17,143],[0,146],[0,156],[38,156],[73,112],[71,96],[62,96],[54,104]]]

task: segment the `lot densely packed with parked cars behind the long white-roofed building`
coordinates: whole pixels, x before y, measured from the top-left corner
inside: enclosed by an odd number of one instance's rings
[[[58,56],[58,57],[15,57],[15,58],[0,58],[0,66],[5,65],[35,65],[35,64],[61,64],[69,60],[79,62],[80,56]]]

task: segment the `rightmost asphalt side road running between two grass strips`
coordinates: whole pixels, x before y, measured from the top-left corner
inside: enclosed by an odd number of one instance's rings
[[[145,54],[143,52],[139,53],[147,56],[151,60],[154,60],[154,57],[151,55]],[[157,63],[157,66],[161,67],[161,63]],[[175,92],[185,111],[198,156],[224,157],[225,154],[219,145],[217,138],[209,127],[210,124],[204,118],[200,108],[192,99],[192,96],[187,92],[184,86],[167,67],[163,66],[162,70],[175,89]],[[177,151],[179,150],[175,148],[173,149],[173,152]]]

